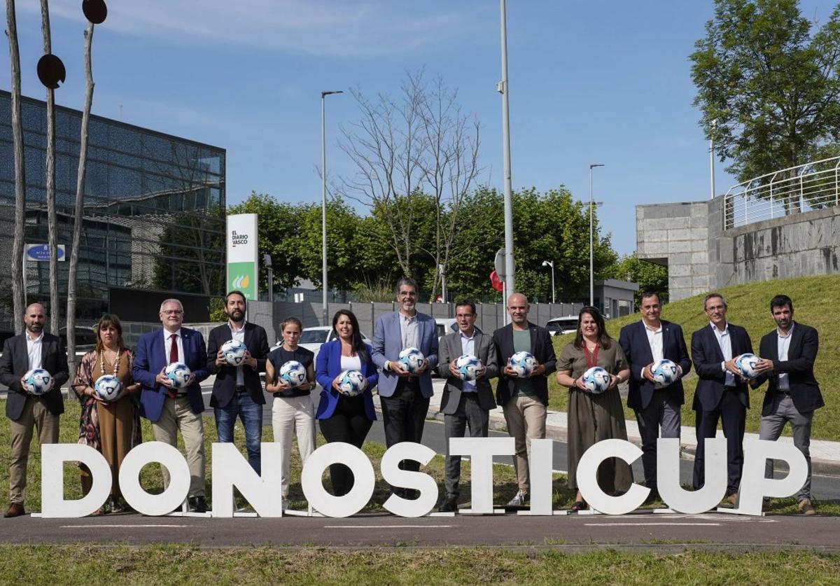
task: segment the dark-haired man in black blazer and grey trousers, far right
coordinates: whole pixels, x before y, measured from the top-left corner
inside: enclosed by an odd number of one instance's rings
[[[793,320],[793,301],[786,295],[770,300],[770,314],[776,329],[761,338],[759,378],[753,386],[769,381],[761,407],[759,439],[775,442],[790,421],[793,443],[808,463],[808,478],[796,494],[799,509],[816,515],[811,502],[811,421],[814,411],[825,405],[820,385],[814,378],[816,351],[820,347],[816,329]],[[765,477],[773,478],[773,460],[768,460]]]

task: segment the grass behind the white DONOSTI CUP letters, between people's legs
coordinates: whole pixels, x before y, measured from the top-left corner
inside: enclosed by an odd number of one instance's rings
[[[0,401],[0,409],[5,408],[3,401]],[[79,421],[79,404],[75,400],[66,402],[66,413],[61,416],[60,423],[60,437],[62,443],[75,443],[78,438],[78,421]],[[149,421],[143,421],[143,440],[144,442],[154,441],[155,437],[152,433]],[[432,424],[430,424],[432,425]],[[207,480],[207,500],[213,501],[213,468],[211,462],[210,444],[216,441],[216,427],[212,417],[205,416],[204,418],[204,437],[205,447],[204,453],[207,455],[206,480]],[[270,427],[263,428],[263,442],[272,441],[272,432]],[[239,452],[245,454],[244,447],[244,432],[242,427],[237,425],[234,434],[234,442],[239,447]],[[318,445],[323,445],[323,436],[318,434]],[[179,446],[181,453],[184,451],[183,443],[179,436]],[[376,442],[365,442],[363,451],[370,458],[373,463],[376,473],[376,484],[374,494],[370,498],[370,502],[365,507],[366,511],[383,511],[382,503],[386,501],[391,494],[391,487],[382,479],[380,473],[380,461],[382,455],[385,453],[385,446]],[[5,504],[8,498],[8,460],[11,452],[11,442],[9,439],[8,419],[0,418],[0,505]],[[443,456],[435,456],[427,466],[423,467],[423,472],[430,474],[438,486],[440,487],[441,497],[444,496],[444,458]],[[64,491],[66,499],[81,498],[81,483],[79,481],[78,468],[71,463],[66,463],[64,466]],[[306,500],[303,495],[300,484],[301,461],[297,455],[297,443],[291,452],[291,485],[289,487],[289,498],[291,500],[292,509],[306,509]],[[41,458],[40,447],[37,438],[33,440],[32,447],[29,452],[29,466],[27,470],[27,478],[29,484],[26,488],[25,507],[28,512],[33,510],[40,510],[41,502]],[[330,487],[329,473],[325,471],[323,474],[323,482],[326,487]],[[144,489],[150,493],[156,494],[163,491],[163,479],[160,475],[160,466],[158,464],[147,464],[140,473],[140,484]],[[470,495],[470,463],[463,462],[461,464],[461,494],[462,502],[469,500]],[[512,466],[504,464],[496,464],[493,467],[493,501],[496,505],[503,505],[512,498],[517,492],[516,475],[513,473]],[[280,498],[280,495],[277,495]],[[575,502],[575,493],[566,485],[564,474],[554,474],[554,508],[568,509]],[[238,496],[237,505],[245,506],[246,501]],[[661,506],[661,503],[650,505]],[[775,499],[772,501],[770,510],[774,513],[780,514],[796,514],[795,499]],[[819,512],[821,515],[840,515],[840,504],[820,503]],[[2,576],[2,574],[0,574]]]

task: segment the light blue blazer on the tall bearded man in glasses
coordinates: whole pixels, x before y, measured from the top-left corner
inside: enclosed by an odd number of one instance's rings
[[[420,352],[428,360],[428,369],[420,375],[420,391],[424,397],[434,394],[432,389],[432,370],[438,365],[438,326],[433,318],[417,312],[417,325]],[[396,382],[400,379],[395,373],[385,369],[388,360],[400,358],[402,350],[402,334],[400,333],[400,312],[386,313],[378,320],[373,329],[373,361],[381,371],[379,381],[379,395],[390,397],[396,390]]]

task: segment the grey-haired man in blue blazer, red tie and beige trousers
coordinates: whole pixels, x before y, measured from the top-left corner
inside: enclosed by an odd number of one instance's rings
[[[204,426],[202,423],[202,388],[207,378],[207,348],[199,332],[181,327],[184,306],[177,299],[160,304],[163,328],[140,337],[134,353],[134,380],[143,385],[140,392],[140,415],[152,422],[155,440],[177,446],[178,431],[184,438],[186,463],[190,468],[189,504],[197,513],[207,512],[204,498]],[[192,371],[186,387],[176,389],[164,371],[180,362]],[[161,466],[164,485],[169,486],[169,472]]]

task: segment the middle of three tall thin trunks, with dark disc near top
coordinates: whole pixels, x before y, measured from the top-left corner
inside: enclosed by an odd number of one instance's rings
[[[50,7],[41,0],[41,32],[44,34],[44,54],[52,53],[50,40]],[[60,311],[58,306],[58,236],[55,214],[55,90],[47,88],[47,232],[50,243],[50,332],[58,336]]]

